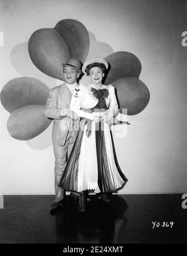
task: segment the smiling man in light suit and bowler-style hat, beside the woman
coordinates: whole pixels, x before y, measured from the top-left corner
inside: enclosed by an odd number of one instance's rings
[[[70,58],[62,66],[65,83],[50,90],[44,112],[46,117],[54,119],[52,142],[55,155],[55,200],[50,205],[52,208],[64,204],[65,193],[58,184],[79,130],[79,116],[70,110],[70,106],[85,91],[85,87],[77,83],[82,73],[80,61]]]

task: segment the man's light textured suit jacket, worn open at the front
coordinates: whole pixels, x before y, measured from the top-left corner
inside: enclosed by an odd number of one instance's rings
[[[80,85],[80,89],[84,91],[84,86]],[[54,119],[52,142],[58,145],[65,144],[69,130],[74,131],[74,137],[79,130],[79,120],[74,121],[74,111],[70,110],[71,98],[68,90],[65,83],[50,89],[44,111],[46,117]],[[82,93],[79,94],[79,97],[81,95]],[[74,101],[78,100],[79,97]],[[63,117],[60,118],[60,116]]]

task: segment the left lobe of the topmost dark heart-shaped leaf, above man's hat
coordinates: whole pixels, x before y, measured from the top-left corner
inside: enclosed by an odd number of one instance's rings
[[[35,31],[29,39],[29,55],[40,71],[56,79],[64,79],[62,63],[69,59],[69,50],[55,29]]]

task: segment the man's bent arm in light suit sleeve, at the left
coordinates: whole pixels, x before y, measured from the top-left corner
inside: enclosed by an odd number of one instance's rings
[[[49,97],[47,98],[46,108],[44,111],[46,117],[52,119],[62,119],[62,117],[67,116],[71,119],[74,117],[75,114],[70,111],[70,109],[58,109],[57,108],[57,95],[55,94],[54,90],[50,90]]]

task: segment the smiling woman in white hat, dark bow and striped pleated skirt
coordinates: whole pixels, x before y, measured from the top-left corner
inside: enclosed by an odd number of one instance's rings
[[[84,117],[59,187],[80,193],[78,210],[85,212],[85,191],[114,192],[127,182],[117,163],[110,133],[118,113],[115,88],[102,84],[108,63],[103,59],[85,62],[82,71],[92,84],[72,110]]]

